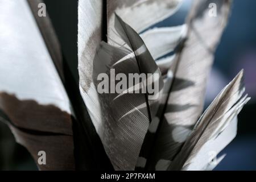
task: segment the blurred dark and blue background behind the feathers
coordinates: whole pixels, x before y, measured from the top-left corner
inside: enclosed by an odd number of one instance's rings
[[[45,0],[59,37],[63,56],[78,82],[77,0]],[[183,2],[174,16],[155,27],[184,23],[192,0]],[[209,1],[210,3],[210,1]],[[205,107],[241,69],[245,69],[246,92],[251,100],[238,115],[237,137],[225,148],[227,154],[215,170],[256,170],[256,1],[234,0],[228,26],[217,48],[208,82]],[[0,169],[37,170],[25,148],[16,144],[9,128],[0,122]]]

